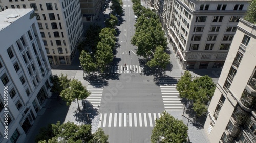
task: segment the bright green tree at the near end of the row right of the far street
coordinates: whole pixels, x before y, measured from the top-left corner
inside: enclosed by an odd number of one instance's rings
[[[147,62],[149,67],[160,67],[165,69],[167,64],[170,63],[170,55],[164,52],[161,46],[156,48],[154,58]]]

